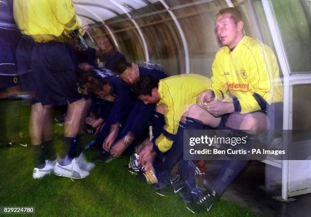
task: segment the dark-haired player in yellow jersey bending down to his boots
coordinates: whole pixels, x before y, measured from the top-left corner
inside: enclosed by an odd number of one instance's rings
[[[141,76],[140,80],[132,87],[138,99],[145,104],[154,103],[158,107],[164,106],[162,110],[165,112],[160,112],[164,113],[164,126],[154,126],[155,132],[160,131],[160,133],[155,133],[157,136],[139,153],[139,160],[144,165],[153,162],[153,159],[157,157],[157,163],[153,165],[156,176],[154,180],[159,181],[158,186],[155,186],[159,195],[165,195],[164,190],[168,190],[169,193],[174,192],[170,171],[182,158],[183,153],[184,123],[180,119],[192,105],[197,103],[199,94],[210,86],[211,82],[207,77],[198,74],[184,74],[164,78],[159,82],[150,76]],[[181,139],[181,142],[176,138]],[[167,156],[163,163],[162,156]],[[150,180],[150,182],[153,181]],[[180,188],[174,189],[175,193],[183,187],[184,185],[180,185]]]

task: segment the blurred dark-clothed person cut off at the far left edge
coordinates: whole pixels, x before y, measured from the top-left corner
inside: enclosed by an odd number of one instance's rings
[[[23,143],[19,132],[21,97],[16,67],[20,32],[13,17],[13,2],[0,1],[0,144]],[[14,101],[13,101],[14,100]],[[24,145],[24,144],[22,144]],[[0,145],[1,146],[1,145]]]

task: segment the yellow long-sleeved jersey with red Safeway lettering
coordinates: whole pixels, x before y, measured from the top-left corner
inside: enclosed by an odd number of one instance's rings
[[[244,36],[230,51],[222,47],[212,65],[215,100],[226,94],[236,98],[235,111],[248,113],[265,109],[266,103],[283,102],[283,84],[276,57],[267,45]]]

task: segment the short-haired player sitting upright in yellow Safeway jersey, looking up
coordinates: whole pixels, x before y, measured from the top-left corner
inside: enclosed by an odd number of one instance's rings
[[[243,25],[236,8],[223,9],[216,15],[216,33],[223,47],[212,65],[212,87],[200,94],[198,104],[188,112],[187,116],[197,122],[192,129],[200,129],[203,124],[238,130],[232,132],[254,138],[270,127],[267,108],[282,105],[283,84],[276,57],[267,45],[244,36]],[[222,101],[227,95],[233,102]],[[193,196],[187,208],[195,213],[209,211],[246,163],[247,160],[225,161],[212,189]]]

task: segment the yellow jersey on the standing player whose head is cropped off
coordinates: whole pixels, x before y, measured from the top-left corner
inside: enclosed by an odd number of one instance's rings
[[[65,29],[71,32],[82,24],[72,0],[14,0],[14,18],[21,33],[37,42],[62,38]]]

